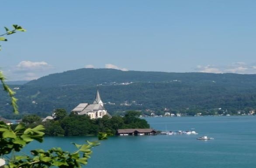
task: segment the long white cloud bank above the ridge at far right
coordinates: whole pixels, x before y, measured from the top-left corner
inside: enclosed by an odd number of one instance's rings
[[[206,73],[216,73],[216,74],[218,73],[256,74],[256,66],[248,65],[244,62],[235,62],[226,66],[197,65],[196,71],[206,72]]]

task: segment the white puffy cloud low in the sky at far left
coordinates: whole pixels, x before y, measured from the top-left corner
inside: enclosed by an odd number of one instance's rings
[[[41,62],[32,62],[29,60],[23,60],[19,64],[17,64],[18,70],[42,70],[42,69],[48,69],[51,67],[47,62],[41,61]]]

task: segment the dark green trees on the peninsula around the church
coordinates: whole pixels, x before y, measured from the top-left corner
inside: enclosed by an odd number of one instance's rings
[[[49,136],[83,136],[97,135],[98,132],[115,134],[118,129],[149,128],[146,120],[138,118],[140,112],[127,111],[125,116],[104,115],[103,118],[90,119],[88,115],[66,113],[64,109],[56,109],[52,120],[41,121],[37,115],[24,116],[22,122],[28,128],[37,125],[45,127],[45,135]]]

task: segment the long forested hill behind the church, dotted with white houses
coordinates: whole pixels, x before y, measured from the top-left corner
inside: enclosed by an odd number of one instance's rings
[[[222,108],[235,113],[256,109],[255,74],[166,73],[84,68],[50,74],[15,90],[20,111],[48,113],[92,103],[97,88],[105,108],[115,111],[169,108],[201,112]],[[6,93],[0,92],[0,114],[10,114]]]

